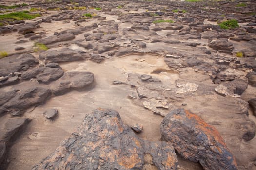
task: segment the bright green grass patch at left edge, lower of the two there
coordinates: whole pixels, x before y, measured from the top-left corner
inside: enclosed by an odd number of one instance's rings
[[[29,14],[29,11],[13,12],[0,15],[0,20],[30,20],[40,17],[40,14]]]

